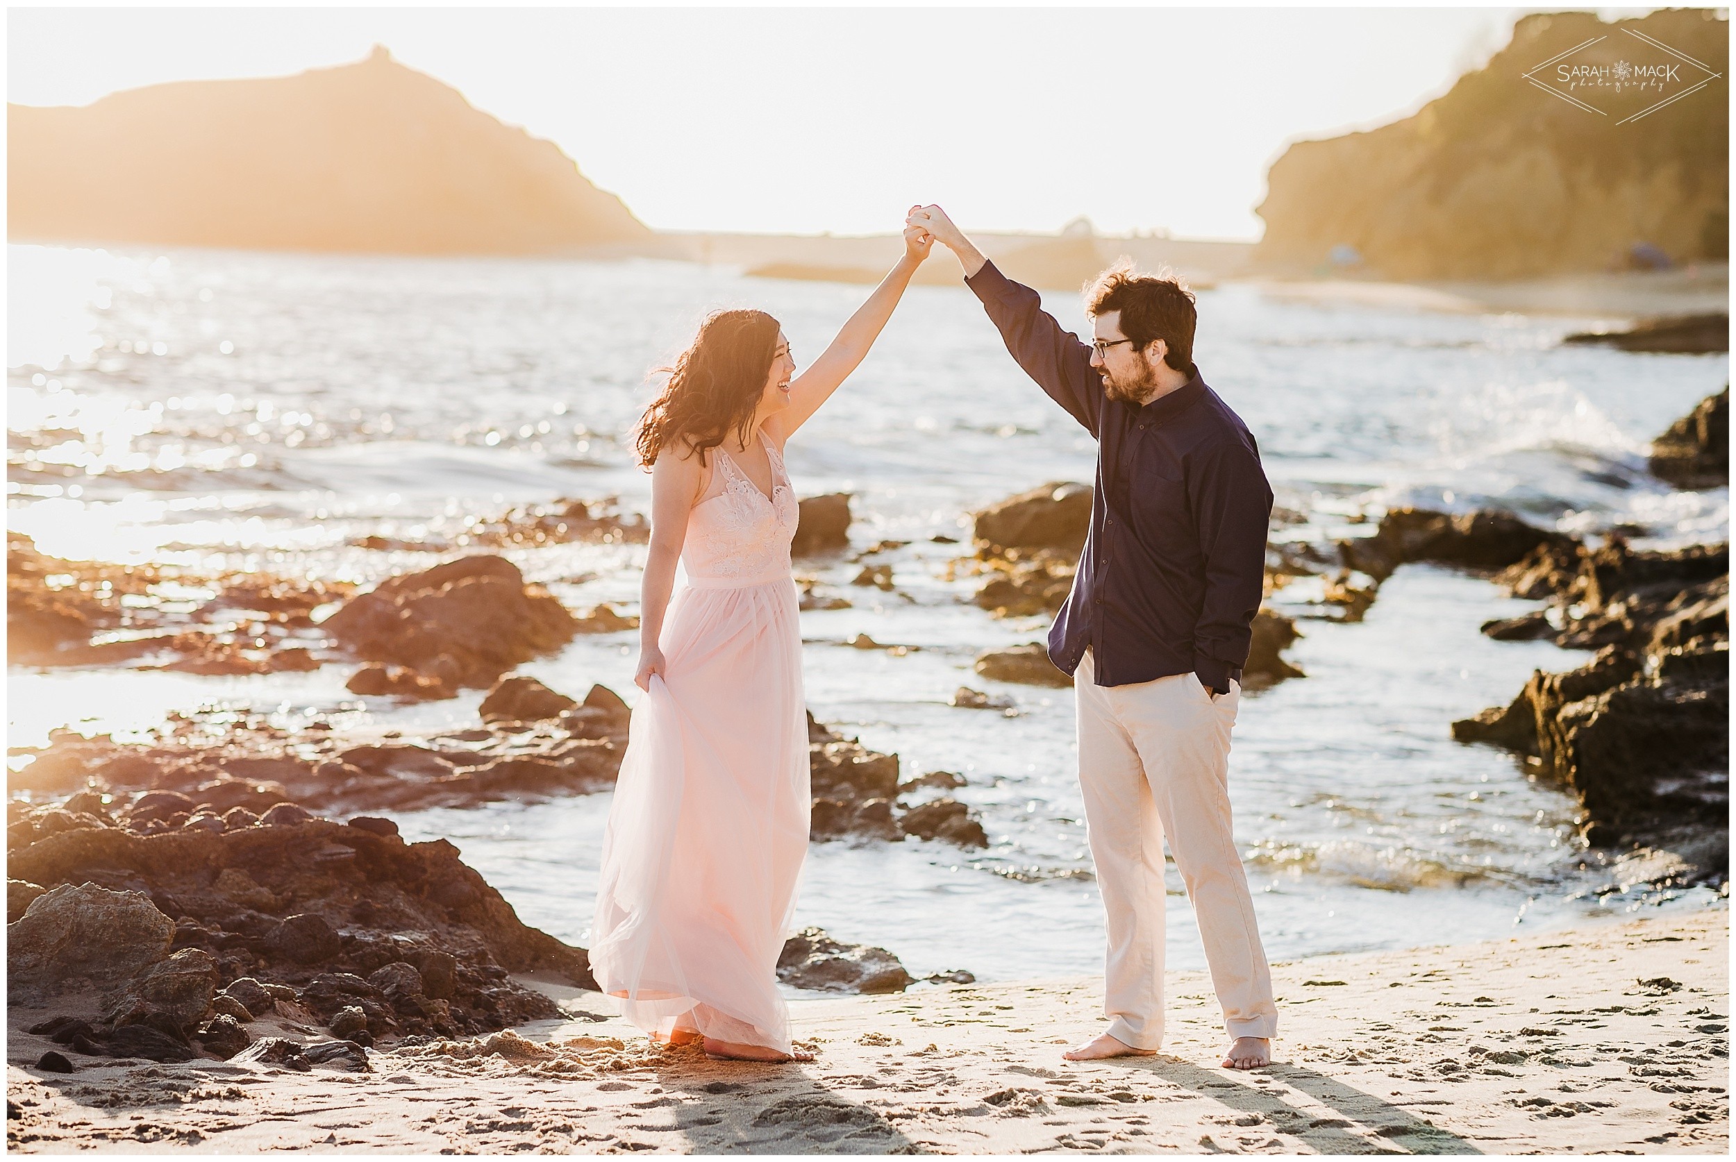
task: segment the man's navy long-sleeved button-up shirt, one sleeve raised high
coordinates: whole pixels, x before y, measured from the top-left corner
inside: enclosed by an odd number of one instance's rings
[[[1193,671],[1227,690],[1248,659],[1272,515],[1248,427],[1198,366],[1149,404],[1109,399],[1092,349],[1036,291],[993,262],[965,281],[1026,375],[1097,437],[1090,532],[1049,657],[1073,673],[1090,647],[1097,685]]]

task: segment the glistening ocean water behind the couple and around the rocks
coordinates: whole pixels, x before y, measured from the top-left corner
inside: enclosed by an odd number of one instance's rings
[[[746,279],[674,262],[422,260],[238,251],[9,248],[9,527],[47,553],[373,581],[437,555],[356,548],[370,534],[458,541],[519,503],[618,496],[644,510],[628,432],[710,309],[776,314],[799,364],[861,302],[856,286]],[[1083,331],[1080,304],[1045,297]],[[1727,491],[1675,493],[1644,446],[1727,382],[1724,356],[1561,347],[1599,319],[1451,316],[1309,305],[1227,284],[1200,293],[1196,359],[1260,441],[1274,536],[1349,536],[1413,503],[1516,508],[1538,524],[1724,539]],[[1017,369],[962,286],[913,288],[880,343],[792,441],[802,494],[854,494],[859,565],[799,565],[840,610],[802,614],[809,704],[908,775],[963,774],[958,798],[991,846],[814,845],[804,924],[898,952],[917,973],[984,980],[1097,971],[1102,917],[1085,850],[1071,690],[970,673],[991,645],[1042,640],[1045,619],[996,621],[951,579],[969,512],[1043,480],[1090,480],[1088,435]],[[642,546],[509,550],[573,607],[637,602]],[[1488,581],[1401,569],[1358,624],[1311,617],[1288,652],[1307,678],[1245,697],[1231,760],[1238,841],[1274,959],[1489,938],[1516,926],[1708,904],[1708,891],[1623,888],[1573,838],[1575,803],[1448,725],[1505,702],[1533,668],[1583,654],[1477,633],[1529,609]],[[917,647],[858,650],[868,633]],[[524,666],[632,701],[635,636],[580,638]],[[420,706],[358,699],[345,666],[205,678],[161,671],[9,675],[12,746],[56,727],[144,730],[177,709],[318,715],[406,734],[472,725],[479,694]],[[969,683],[1016,713],[955,709]],[[585,943],[609,796],[399,817],[446,836],[519,914]],[[1170,872],[1170,963],[1203,963]]]

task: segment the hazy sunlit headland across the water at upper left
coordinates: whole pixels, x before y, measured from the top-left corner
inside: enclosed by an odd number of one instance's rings
[[[549,140],[384,49],[295,76],[7,106],[12,241],[557,255],[651,231]]]

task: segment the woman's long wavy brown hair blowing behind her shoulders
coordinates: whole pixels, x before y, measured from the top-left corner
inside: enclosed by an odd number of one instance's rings
[[[668,383],[639,421],[639,463],[649,468],[677,441],[707,463],[707,449],[722,444],[731,430],[745,444],[778,354],[778,321],[764,310],[712,314],[675,366],[658,368]]]

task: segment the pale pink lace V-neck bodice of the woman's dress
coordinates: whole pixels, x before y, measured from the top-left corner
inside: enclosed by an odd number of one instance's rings
[[[696,588],[764,584],[790,576],[797,505],[778,447],[760,432],[771,460],[771,498],[729,453],[713,447],[713,479],[687,517],[681,562]]]

